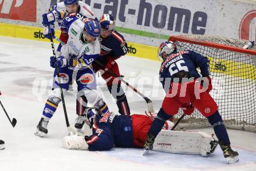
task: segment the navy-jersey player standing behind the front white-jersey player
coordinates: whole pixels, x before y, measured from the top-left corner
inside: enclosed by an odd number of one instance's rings
[[[104,67],[98,66],[94,62],[93,68],[95,72],[103,71],[103,73],[101,72],[101,76],[105,79],[109,92],[116,100],[119,113],[130,115],[129,104],[125,92],[121,87],[121,82],[108,72],[108,70],[111,70],[120,77],[118,64],[115,60],[127,53],[127,43],[123,36],[115,31],[115,20],[111,14],[103,14],[99,20],[99,24],[101,25],[101,35],[99,37],[99,41],[101,41],[101,53],[97,57],[97,61]],[[81,117],[86,108],[84,104],[87,104],[85,97],[83,97],[83,100],[77,101],[77,114],[79,114],[75,124],[75,128],[77,129],[81,129],[84,124]]]

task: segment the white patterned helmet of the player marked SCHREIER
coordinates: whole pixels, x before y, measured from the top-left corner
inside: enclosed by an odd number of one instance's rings
[[[172,53],[177,53],[177,48],[175,43],[172,41],[162,42],[158,48],[158,58],[159,60],[165,60],[166,56]]]

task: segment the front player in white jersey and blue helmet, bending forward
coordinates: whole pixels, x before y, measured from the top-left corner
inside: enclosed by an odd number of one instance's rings
[[[61,55],[56,59],[51,57],[50,61],[51,67],[59,67],[60,85],[63,93],[69,89],[69,82],[74,78],[79,94],[86,96],[90,104],[98,108],[102,113],[106,113],[108,112],[108,107],[95,91],[95,72],[91,67],[91,63],[98,57],[101,50],[98,40],[101,32],[99,23],[93,19],[83,19],[82,21],[77,18],[76,13],[70,13],[66,17],[64,24],[69,34],[69,39],[67,44],[62,46]],[[54,115],[58,104],[61,102],[61,91],[56,75],[55,70],[53,90],[45,103],[42,118],[35,132],[35,135],[40,137],[48,133],[47,125],[49,119]]]

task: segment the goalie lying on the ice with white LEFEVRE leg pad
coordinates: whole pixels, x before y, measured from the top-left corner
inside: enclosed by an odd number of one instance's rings
[[[86,108],[84,120],[93,128],[93,134],[65,136],[62,141],[65,148],[90,151],[109,150],[113,147],[143,148],[154,117],[139,114],[117,115],[113,112],[102,115],[101,111]],[[172,122],[165,121],[156,139],[154,150],[204,156],[215,150],[217,143],[208,134],[173,131],[170,130],[172,126]]]

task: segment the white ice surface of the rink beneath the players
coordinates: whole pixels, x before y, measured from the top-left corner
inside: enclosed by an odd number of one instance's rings
[[[157,46],[157,45],[156,45]],[[0,139],[5,141],[5,150],[0,151],[0,170],[256,170],[256,134],[228,129],[232,147],[239,152],[240,161],[227,164],[221,149],[209,157],[200,155],[169,154],[152,151],[141,155],[136,148],[113,148],[110,151],[90,152],[66,150],[61,139],[67,129],[63,108],[58,110],[48,125],[44,138],[34,135],[41,118],[42,109],[51,90],[54,69],[49,66],[52,56],[49,42],[0,37],[0,97],[10,118],[17,119],[12,128],[0,109]],[[157,56],[156,56],[157,57]],[[138,88],[159,109],[164,96],[159,85],[158,61],[123,56],[118,60],[120,72],[130,76],[128,82]],[[136,78],[134,72],[140,73]],[[105,82],[97,78],[98,92],[109,108],[117,112]],[[123,86],[129,101],[131,113],[143,114],[147,110],[143,98]],[[76,118],[75,92],[65,96],[70,125]],[[213,129],[200,129],[213,133]]]

